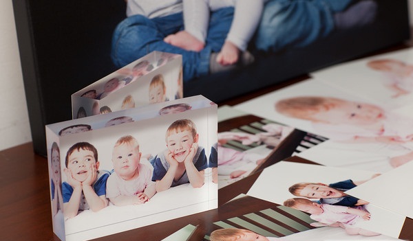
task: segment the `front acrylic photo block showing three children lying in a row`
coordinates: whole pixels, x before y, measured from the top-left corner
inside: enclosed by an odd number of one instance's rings
[[[89,240],[218,207],[217,109],[197,95],[45,126],[54,233]]]

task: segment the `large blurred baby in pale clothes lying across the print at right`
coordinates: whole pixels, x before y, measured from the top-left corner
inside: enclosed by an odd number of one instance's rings
[[[287,117],[312,122],[320,135],[330,139],[387,144],[413,140],[412,119],[366,102],[298,96],[279,100],[275,110]]]

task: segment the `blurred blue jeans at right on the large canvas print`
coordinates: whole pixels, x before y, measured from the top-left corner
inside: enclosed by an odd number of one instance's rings
[[[353,0],[270,0],[255,33],[255,47],[279,51],[304,47],[328,36],[334,28],[335,12],[345,10]]]

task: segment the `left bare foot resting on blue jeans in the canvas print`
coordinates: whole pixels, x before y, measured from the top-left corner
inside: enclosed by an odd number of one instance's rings
[[[187,31],[180,31],[176,34],[170,34],[164,38],[165,43],[180,47],[188,51],[201,51],[204,48],[204,43],[198,38],[195,38]]]

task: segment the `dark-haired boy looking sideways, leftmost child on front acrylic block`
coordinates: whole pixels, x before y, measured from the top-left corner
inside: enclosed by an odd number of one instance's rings
[[[72,218],[79,210],[99,211],[107,206],[108,172],[98,171],[98,151],[87,142],[78,142],[67,150],[65,159],[67,181],[62,183],[63,213]]]

